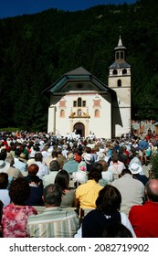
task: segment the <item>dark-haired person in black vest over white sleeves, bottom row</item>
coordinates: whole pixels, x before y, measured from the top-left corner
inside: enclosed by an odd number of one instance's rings
[[[121,223],[130,229],[135,237],[132,225],[126,214],[120,212],[121,193],[116,187],[107,185],[99,192],[96,209],[91,210],[82,221],[82,238],[101,238],[103,231],[113,223]]]

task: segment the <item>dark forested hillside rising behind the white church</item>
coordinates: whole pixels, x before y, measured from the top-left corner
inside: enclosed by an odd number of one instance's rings
[[[132,119],[158,120],[157,14],[156,0],[140,0],[1,19],[0,128],[46,131],[41,91],[71,69],[82,66],[107,84],[120,29],[132,65]]]

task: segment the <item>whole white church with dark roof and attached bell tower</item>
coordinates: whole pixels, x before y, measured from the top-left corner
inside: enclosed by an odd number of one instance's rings
[[[111,139],[131,131],[131,65],[121,36],[114,48],[108,85],[79,67],[68,71],[48,87],[47,133]]]

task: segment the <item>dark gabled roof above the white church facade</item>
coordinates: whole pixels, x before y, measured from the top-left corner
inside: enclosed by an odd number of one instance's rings
[[[66,93],[68,91],[98,91],[108,93],[111,89],[93,76],[88,70],[79,67],[78,69],[73,69],[65,73],[45,91],[51,92],[52,94]]]

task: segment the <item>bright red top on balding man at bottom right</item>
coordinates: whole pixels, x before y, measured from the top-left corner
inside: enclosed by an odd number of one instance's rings
[[[133,206],[129,219],[138,238],[158,238],[158,202],[146,201],[142,206]]]

